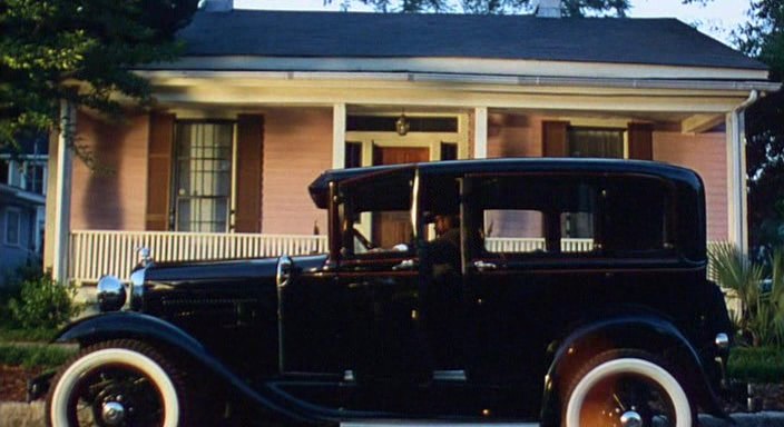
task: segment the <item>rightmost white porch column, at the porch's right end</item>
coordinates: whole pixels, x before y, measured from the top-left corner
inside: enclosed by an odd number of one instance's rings
[[[727,219],[729,241],[748,252],[746,126],[743,110],[727,115]]]

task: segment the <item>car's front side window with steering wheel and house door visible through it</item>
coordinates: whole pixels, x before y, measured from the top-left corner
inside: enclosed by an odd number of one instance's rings
[[[412,250],[410,171],[341,185],[344,256]]]

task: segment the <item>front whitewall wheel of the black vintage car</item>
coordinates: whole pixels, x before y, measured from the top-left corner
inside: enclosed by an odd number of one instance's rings
[[[112,340],[85,348],[52,381],[49,426],[186,425],[186,387],[154,348]]]

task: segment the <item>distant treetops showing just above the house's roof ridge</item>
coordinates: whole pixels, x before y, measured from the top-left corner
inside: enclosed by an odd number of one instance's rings
[[[357,2],[380,12],[518,13],[532,11],[535,0],[343,0],[341,4],[349,9]],[[590,13],[624,17],[628,9],[628,0],[564,0],[564,13],[569,17]]]

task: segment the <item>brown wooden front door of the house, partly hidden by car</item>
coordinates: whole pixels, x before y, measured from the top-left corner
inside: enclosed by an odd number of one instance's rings
[[[428,160],[430,160],[430,150],[424,147],[373,147],[373,166]],[[379,212],[373,216],[372,240],[382,248],[408,244],[412,231],[409,212]]]

